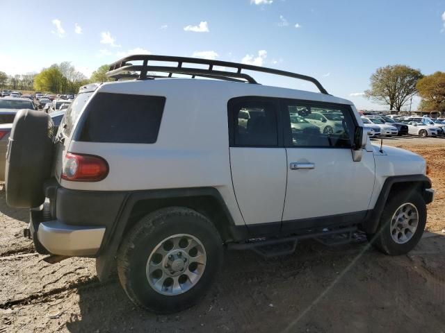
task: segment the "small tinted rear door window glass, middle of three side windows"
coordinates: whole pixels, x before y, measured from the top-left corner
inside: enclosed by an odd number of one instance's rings
[[[238,103],[233,112],[236,146],[277,146],[277,114],[273,103]]]

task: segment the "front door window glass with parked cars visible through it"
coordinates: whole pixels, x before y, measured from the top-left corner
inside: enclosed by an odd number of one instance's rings
[[[355,125],[348,108],[286,103],[286,112],[291,146],[350,148],[350,133],[354,133]]]

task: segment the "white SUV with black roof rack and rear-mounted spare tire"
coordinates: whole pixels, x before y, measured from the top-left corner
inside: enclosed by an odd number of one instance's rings
[[[259,85],[245,70],[321,93]],[[165,313],[211,288],[225,247],[270,257],[362,230],[401,255],[421,238],[433,197],[425,160],[371,145],[353,103],[316,79],[147,55],[108,75],[136,79],[83,87],[58,133],[44,112],[15,117],[6,198],[31,209],[25,234],[50,262],[95,257],[100,280],[117,266],[134,303]],[[332,131],[306,123],[313,114]]]

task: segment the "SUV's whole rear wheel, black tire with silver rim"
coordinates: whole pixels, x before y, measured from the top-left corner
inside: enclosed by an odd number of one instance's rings
[[[185,207],[148,214],[125,237],[118,275],[136,305],[159,314],[181,311],[209,290],[223,261],[211,221]]]

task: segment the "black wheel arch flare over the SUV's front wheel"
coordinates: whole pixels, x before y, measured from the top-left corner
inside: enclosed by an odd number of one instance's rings
[[[425,175],[388,177],[380,190],[380,194],[373,210],[369,210],[368,214],[365,216],[363,222],[364,231],[368,234],[374,234],[377,231],[383,208],[391,194],[407,190],[419,191],[426,203],[430,203],[430,197],[425,191],[425,189],[430,188],[431,180]]]

